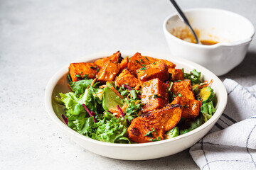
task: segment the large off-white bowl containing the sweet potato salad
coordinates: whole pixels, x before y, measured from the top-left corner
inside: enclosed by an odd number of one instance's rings
[[[121,51],[122,56],[132,56],[136,51]],[[192,130],[184,135],[174,137],[169,140],[162,140],[158,142],[149,142],[143,144],[113,144],[108,142],[100,142],[97,140],[92,140],[89,137],[80,135],[71,128],[65,125],[61,115],[64,112],[64,107],[58,105],[53,100],[54,96],[58,96],[60,92],[66,93],[70,91],[68,87],[68,66],[66,65],[63,69],[60,69],[48,82],[46,87],[46,109],[50,118],[63,129],[63,131],[70,136],[72,140],[77,142],[83,148],[100,154],[105,157],[110,157],[114,159],[125,159],[125,160],[143,160],[143,159],[155,159],[159,157],[166,157],[171,154],[176,154],[181,152],[188,147],[194,145],[198,140],[200,140],[206,133],[213,128],[220,115],[223,113],[226,103],[227,103],[227,92],[222,81],[218,79],[212,72],[208,69],[201,67],[200,65],[184,60],[177,57],[172,57],[171,55],[159,54],[154,52],[141,52],[142,55],[162,58],[174,62],[176,68],[184,68],[185,72],[190,72],[193,69],[202,72],[203,79],[210,80],[213,79],[212,88],[214,89],[217,97],[216,108],[217,111],[214,113],[213,117],[208,120],[208,122],[201,125],[199,128]],[[112,52],[101,52],[95,55],[88,55],[75,62],[93,62],[100,57],[110,56]]]

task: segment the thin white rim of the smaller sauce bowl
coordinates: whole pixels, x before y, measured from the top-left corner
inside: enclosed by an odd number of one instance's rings
[[[215,45],[198,45],[198,44],[194,44],[194,43],[187,42],[185,40],[181,40],[179,38],[176,38],[174,35],[169,33],[169,31],[166,28],[167,22],[169,21],[170,18],[173,18],[174,16],[178,16],[177,13],[172,13],[164,19],[163,29],[164,29],[165,35],[169,36],[170,38],[172,38],[172,39],[174,39],[178,42],[184,43],[185,45],[190,45],[191,47],[206,48],[206,49],[214,49],[214,48],[220,47],[220,46],[233,46],[233,45],[247,44],[247,43],[250,43],[252,41],[252,38],[255,35],[255,27],[253,26],[252,22],[249,19],[245,18],[245,16],[241,16],[238,13],[234,13],[232,11],[228,11],[228,10],[224,10],[224,9],[220,9],[220,8],[188,8],[188,9],[183,10],[185,15],[186,15],[187,12],[195,12],[195,11],[215,11],[215,12],[218,12],[218,13],[229,13],[233,16],[240,17],[243,20],[247,21],[247,23],[250,24],[250,26],[252,28],[252,33],[251,33],[250,37],[245,38],[243,40],[238,40],[238,41],[235,41],[235,42],[219,42]]]

